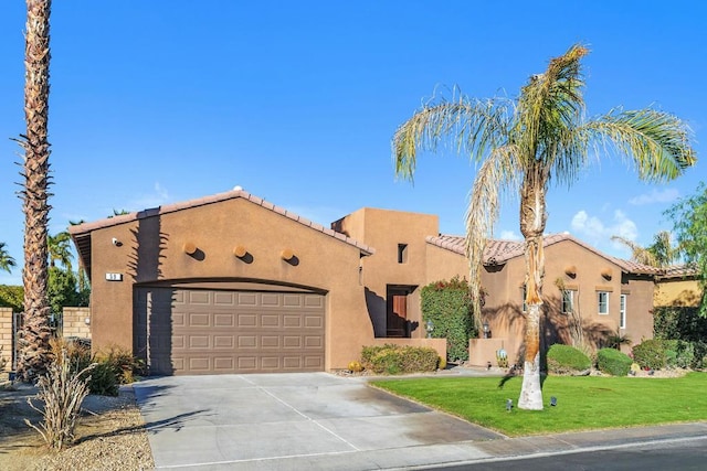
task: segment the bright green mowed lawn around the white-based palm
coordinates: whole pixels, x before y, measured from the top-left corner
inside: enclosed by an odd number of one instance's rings
[[[506,411],[523,377],[381,379],[381,389],[509,437],[707,420],[707,373],[678,378],[548,376],[544,410]],[[557,407],[550,407],[550,397]]]

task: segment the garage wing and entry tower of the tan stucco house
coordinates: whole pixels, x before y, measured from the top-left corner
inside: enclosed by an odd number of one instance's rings
[[[387,224],[410,238],[387,235]],[[346,368],[363,345],[389,341],[446,355],[409,300],[425,281],[423,234],[436,225],[363,210],[338,232],[234,190],[70,233],[92,281],[95,350],[131,350],[154,374],[218,374]]]

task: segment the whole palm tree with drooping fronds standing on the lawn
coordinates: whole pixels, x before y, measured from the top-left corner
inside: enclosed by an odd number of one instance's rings
[[[640,178],[671,180],[692,165],[695,151],[688,128],[676,117],[653,110],[612,110],[584,117],[581,60],[572,45],[532,75],[516,100],[455,97],[424,105],[402,124],[392,140],[395,174],[411,180],[419,151],[445,141],[481,161],[466,213],[466,253],[471,293],[481,312],[482,256],[498,217],[502,192],[518,192],[526,259],[526,355],[518,407],[542,409],[540,388],[540,311],[545,255],[546,192],[573,183],[589,164],[590,148],[614,150],[635,164]],[[478,315],[476,315],[478,318]]]

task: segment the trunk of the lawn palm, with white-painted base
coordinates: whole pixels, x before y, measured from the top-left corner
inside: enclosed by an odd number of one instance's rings
[[[540,314],[545,253],[542,233],[547,221],[545,192],[547,170],[530,169],[520,191],[520,232],[526,239],[526,355],[518,408],[542,409],[540,383]]]

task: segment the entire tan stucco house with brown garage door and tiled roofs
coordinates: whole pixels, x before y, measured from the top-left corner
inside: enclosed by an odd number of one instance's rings
[[[92,281],[94,349],[131,350],[152,374],[340,370],[384,343],[444,356],[420,291],[468,274],[463,237],[439,234],[437,216],[365,207],[329,228],[241,189],[70,233]],[[485,260],[479,365],[502,347],[517,355],[524,324],[523,244],[492,240]],[[546,237],[546,343],[580,324],[594,344],[652,336],[654,270]]]

